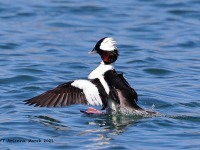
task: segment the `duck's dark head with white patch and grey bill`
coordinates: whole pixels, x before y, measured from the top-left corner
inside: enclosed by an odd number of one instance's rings
[[[118,49],[116,41],[111,37],[100,39],[90,54],[98,53],[105,64],[111,64],[118,58]]]

